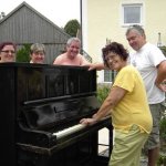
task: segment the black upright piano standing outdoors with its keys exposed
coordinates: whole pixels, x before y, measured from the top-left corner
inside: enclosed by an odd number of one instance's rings
[[[106,166],[111,117],[84,126],[100,107],[96,71],[81,66],[0,64],[1,163],[10,166]],[[108,129],[107,155],[98,131]],[[8,159],[9,158],[9,159]]]

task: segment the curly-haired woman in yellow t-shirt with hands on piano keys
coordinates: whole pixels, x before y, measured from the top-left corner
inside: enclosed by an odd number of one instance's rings
[[[115,139],[110,166],[138,166],[153,124],[144,83],[138,71],[127,64],[128,52],[122,44],[112,42],[102,53],[105,66],[117,75],[96,114],[81,123],[91,125],[111,114]]]

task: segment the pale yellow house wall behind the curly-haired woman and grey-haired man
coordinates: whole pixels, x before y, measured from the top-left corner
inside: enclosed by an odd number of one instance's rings
[[[121,42],[132,51],[125,39],[127,27],[122,25],[123,3],[143,3],[142,25],[147,41],[157,44],[160,32],[162,44],[166,45],[165,0],[82,0],[83,49],[93,62],[102,62],[101,49],[106,44],[106,39]],[[100,71],[98,82],[103,82],[103,71]]]

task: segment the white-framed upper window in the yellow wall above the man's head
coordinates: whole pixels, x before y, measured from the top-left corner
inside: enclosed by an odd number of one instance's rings
[[[143,23],[143,4],[123,4],[123,25]]]

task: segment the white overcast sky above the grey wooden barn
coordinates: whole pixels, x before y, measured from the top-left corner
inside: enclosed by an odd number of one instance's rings
[[[80,22],[80,0],[24,0],[50,21],[64,28],[68,21]],[[0,13],[6,15],[21,4],[23,0],[0,0]]]

